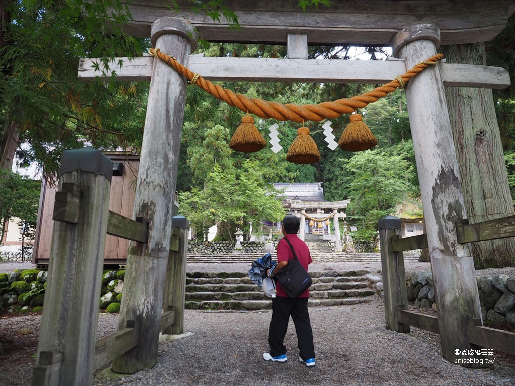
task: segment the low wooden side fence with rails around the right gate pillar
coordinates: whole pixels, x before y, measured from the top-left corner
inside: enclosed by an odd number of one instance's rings
[[[403,251],[427,248],[427,237],[423,234],[401,238],[400,232],[400,219],[387,216],[379,221],[386,328],[409,332],[409,326],[414,326],[439,334],[437,317],[406,309],[408,300]],[[461,244],[515,237],[515,216],[475,224],[462,220],[456,223],[456,234],[458,243]],[[467,329],[463,333],[467,334],[469,343],[515,355],[513,332],[485,327],[482,324],[481,320],[467,321]]]

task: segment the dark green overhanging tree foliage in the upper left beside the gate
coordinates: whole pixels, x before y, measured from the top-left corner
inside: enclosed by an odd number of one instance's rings
[[[0,122],[4,137],[30,144],[22,155],[55,178],[61,152],[89,143],[138,148],[148,82],[82,82],[79,58],[141,55],[144,42],[121,33],[122,2],[7,1],[2,26]],[[111,64],[110,71],[122,63]],[[15,128],[15,129],[13,129]],[[12,133],[8,131],[11,130]],[[3,143],[2,152],[5,150]],[[8,166],[8,165],[7,165]]]

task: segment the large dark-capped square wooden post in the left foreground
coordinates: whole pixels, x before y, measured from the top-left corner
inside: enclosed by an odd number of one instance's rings
[[[32,385],[91,384],[112,171],[93,148],[62,155]]]

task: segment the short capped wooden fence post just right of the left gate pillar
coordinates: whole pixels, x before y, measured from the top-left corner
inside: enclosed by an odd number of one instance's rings
[[[174,324],[163,330],[163,334],[182,334],[184,332],[184,295],[186,293],[186,256],[188,251],[188,227],[190,222],[183,216],[174,216],[171,223],[173,233],[179,238],[178,251],[170,250],[164,311],[174,310]]]

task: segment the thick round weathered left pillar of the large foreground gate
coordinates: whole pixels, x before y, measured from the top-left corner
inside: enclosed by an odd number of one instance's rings
[[[195,49],[195,36],[190,23],[175,17],[158,19],[151,28],[152,44],[181,63],[187,63]],[[148,241],[129,244],[118,322],[118,329],[123,329],[134,320],[139,343],[113,360],[117,373],[133,374],[157,362],[185,98],[185,78],[155,60],[133,215],[148,221]]]

